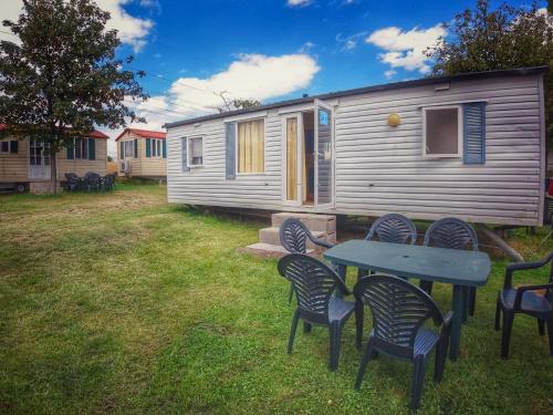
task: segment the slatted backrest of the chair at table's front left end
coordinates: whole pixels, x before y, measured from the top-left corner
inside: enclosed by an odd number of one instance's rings
[[[345,288],[340,277],[324,262],[303,253],[281,258],[279,272],[292,283],[300,313],[315,323],[328,323],[331,297],[337,288]]]

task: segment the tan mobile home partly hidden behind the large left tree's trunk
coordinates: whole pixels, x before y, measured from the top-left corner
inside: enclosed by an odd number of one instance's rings
[[[0,125],[4,129],[6,125]],[[65,173],[84,176],[87,172],[106,174],[107,139],[94,131],[86,138],[74,138],[74,145],[58,153],[58,180],[65,181]],[[31,193],[50,189],[50,154],[40,141],[0,139],[0,188]]]

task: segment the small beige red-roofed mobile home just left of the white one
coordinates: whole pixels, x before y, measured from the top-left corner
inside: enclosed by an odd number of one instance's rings
[[[165,133],[125,128],[115,141],[119,176],[165,178],[167,176],[167,146]]]

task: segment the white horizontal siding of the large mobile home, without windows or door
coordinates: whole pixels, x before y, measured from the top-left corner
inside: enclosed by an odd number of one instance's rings
[[[336,209],[338,214],[411,218],[457,216],[473,222],[536,225],[541,209],[540,76],[456,81],[341,97],[336,107]],[[420,106],[488,101],[486,164],[421,156]],[[396,112],[401,124],[387,125]],[[202,135],[204,167],[181,170],[180,137]],[[171,203],[290,209],[282,206],[281,117],[265,118],[265,174],[225,178],[223,120],[168,131]],[[543,148],[543,152],[541,151]]]

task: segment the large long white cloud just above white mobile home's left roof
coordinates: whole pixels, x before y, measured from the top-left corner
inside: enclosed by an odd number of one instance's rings
[[[221,107],[218,95],[226,98],[265,101],[306,87],[320,68],[307,54],[280,56],[242,54],[225,71],[212,76],[179,77],[166,95],[153,96],[145,103],[129,104],[147,124],[134,126],[159,129],[165,123],[216,113]],[[112,134],[113,135],[113,134]]]

